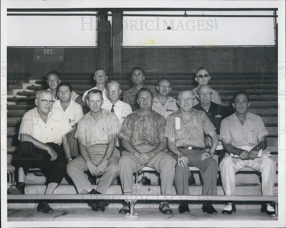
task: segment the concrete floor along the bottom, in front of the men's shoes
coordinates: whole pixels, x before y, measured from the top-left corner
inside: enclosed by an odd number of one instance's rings
[[[163,215],[157,208],[138,208],[135,207],[137,218],[126,218],[119,214],[120,208],[108,207],[106,211],[95,212],[90,207],[86,208],[61,208],[55,209],[53,214],[43,214],[37,209],[8,209],[8,221],[219,221],[219,220],[260,220],[275,221],[266,213],[261,213],[260,209],[238,209],[232,215],[222,215],[222,209],[217,210],[217,215],[203,213],[198,208],[190,208],[189,214],[180,214],[178,209],[172,208],[172,215]]]

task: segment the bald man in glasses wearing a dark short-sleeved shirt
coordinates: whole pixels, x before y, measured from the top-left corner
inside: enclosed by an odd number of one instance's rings
[[[225,118],[231,115],[232,113],[222,105],[213,103],[211,101],[212,97],[212,89],[208,85],[202,85],[198,89],[198,97],[200,100],[200,103],[195,105],[193,108],[197,110],[204,111],[207,115],[207,117],[210,119],[212,124],[216,127],[216,133],[219,135],[219,129],[221,127],[221,121]],[[209,135],[206,135],[204,133],[204,142],[206,146],[210,146],[211,140]],[[224,158],[225,152],[223,150],[222,142],[219,141],[218,146],[216,148],[216,153],[219,155],[219,162]],[[217,180],[217,185],[222,185],[221,183],[221,177],[219,176]]]

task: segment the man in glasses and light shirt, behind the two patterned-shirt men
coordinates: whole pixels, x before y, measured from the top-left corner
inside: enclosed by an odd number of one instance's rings
[[[168,78],[159,78],[156,89],[159,94],[153,98],[152,109],[167,119],[168,115],[178,110],[177,100],[169,96],[172,90],[171,81]]]

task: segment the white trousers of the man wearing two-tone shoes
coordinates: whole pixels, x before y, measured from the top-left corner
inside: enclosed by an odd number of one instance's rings
[[[243,167],[249,167],[261,172],[262,195],[273,195],[275,184],[276,162],[269,157],[255,158],[254,160],[242,160],[226,155],[221,161],[221,180],[226,195],[235,195],[235,173]]]

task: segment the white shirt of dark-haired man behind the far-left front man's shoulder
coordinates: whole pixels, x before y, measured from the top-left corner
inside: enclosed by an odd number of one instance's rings
[[[53,107],[63,110],[59,100],[53,104]],[[79,121],[79,119],[84,116],[84,113],[82,112],[82,106],[73,100],[70,101],[69,106],[67,109],[65,109],[64,113],[71,126],[74,126]]]

